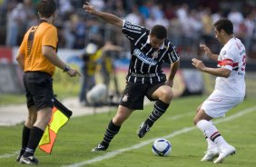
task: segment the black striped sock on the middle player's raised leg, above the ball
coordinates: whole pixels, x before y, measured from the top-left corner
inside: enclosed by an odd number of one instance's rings
[[[169,105],[169,103],[163,103],[161,100],[156,101],[153,106],[153,112],[150,114],[145,123],[147,123],[150,127],[153,126],[153,123],[156,122],[163,113],[165,113]]]

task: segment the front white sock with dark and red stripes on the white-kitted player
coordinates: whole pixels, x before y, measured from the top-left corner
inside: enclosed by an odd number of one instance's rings
[[[202,133],[206,137],[209,138],[209,140],[212,140],[212,142],[217,144],[219,147],[228,145],[228,142],[224,140],[221,133],[218,132],[217,128],[212,123],[206,120],[201,120],[196,124],[196,126],[202,131]]]

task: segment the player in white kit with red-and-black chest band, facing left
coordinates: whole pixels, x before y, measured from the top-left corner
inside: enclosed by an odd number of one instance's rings
[[[207,152],[202,161],[223,160],[236,152],[236,149],[224,140],[213,118],[225,116],[231,108],[241,103],[245,96],[245,47],[233,36],[230,20],[222,18],[214,24],[216,38],[223,44],[220,55],[212,54],[209,47],[201,44],[205,54],[218,63],[218,68],[206,67],[201,60],[192,59],[192,64],[200,71],[217,76],[212,94],[198,107],[193,123],[203,132],[208,142]]]

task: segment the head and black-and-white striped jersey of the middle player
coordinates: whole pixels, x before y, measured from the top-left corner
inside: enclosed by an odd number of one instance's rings
[[[123,34],[131,42],[132,56],[127,82],[159,83],[165,78],[162,62],[170,64],[179,61],[175,46],[166,39],[167,32],[162,25],[154,25],[150,31],[123,21]]]

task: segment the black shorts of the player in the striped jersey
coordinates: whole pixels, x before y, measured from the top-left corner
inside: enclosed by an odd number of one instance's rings
[[[150,101],[156,101],[157,99],[152,98],[152,94],[162,85],[164,82],[153,84],[127,83],[120,104],[133,110],[143,110],[144,96],[147,96]]]

